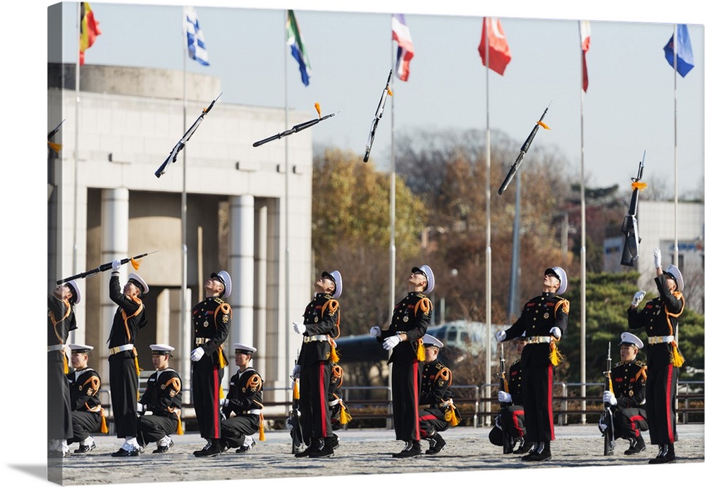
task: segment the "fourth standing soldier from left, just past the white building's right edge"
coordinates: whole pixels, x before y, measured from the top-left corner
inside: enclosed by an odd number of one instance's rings
[[[303,324],[293,323],[303,343],[291,375],[300,377],[301,425],[304,439],[309,440],[308,447],[294,456],[325,458],[333,455],[335,443],[328,386],[331,367],[338,362],[333,340],[341,334],[338,297],[343,293],[343,277],[338,271],[324,271],[314,287],[316,295],[305,309]]]

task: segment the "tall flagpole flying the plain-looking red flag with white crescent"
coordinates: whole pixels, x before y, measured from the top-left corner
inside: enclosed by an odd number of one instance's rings
[[[486,187],[485,187],[485,213],[486,213],[486,249],[485,249],[485,321],[487,326],[486,335],[486,354],[485,354],[485,383],[486,397],[490,397],[492,383],[492,366],[491,366],[491,326],[492,326],[492,247],[491,241],[491,218],[490,218],[490,132],[489,132],[489,25],[488,18],[484,18],[485,29],[485,92],[487,94],[486,104],[486,131],[485,131],[485,171],[486,171]],[[488,403],[489,404],[489,403]],[[489,419],[489,416],[486,420]]]

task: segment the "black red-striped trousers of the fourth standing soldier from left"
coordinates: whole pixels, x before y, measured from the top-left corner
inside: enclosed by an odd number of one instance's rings
[[[328,360],[314,362],[301,368],[299,406],[304,440],[333,436],[331,409],[328,406],[331,369],[331,362]]]

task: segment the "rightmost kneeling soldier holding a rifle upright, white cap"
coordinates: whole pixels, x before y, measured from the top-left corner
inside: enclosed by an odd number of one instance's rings
[[[642,431],[649,429],[646,422],[646,364],[637,360],[639,349],[644,347],[639,337],[625,331],[619,344],[620,362],[612,367],[612,389],[603,393],[602,401],[609,403],[614,422],[614,438],[629,440],[625,455],[636,455],[646,450]],[[600,431],[608,425],[600,424]]]

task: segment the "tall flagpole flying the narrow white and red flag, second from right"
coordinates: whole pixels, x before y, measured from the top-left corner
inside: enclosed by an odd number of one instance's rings
[[[586,343],[586,333],[585,333],[585,319],[586,319],[586,309],[585,309],[585,273],[586,273],[586,248],[585,248],[585,146],[584,146],[584,119],[583,119],[583,106],[585,99],[585,92],[583,90],[583,80],[585,79],[585,63],[582,61],[582,56],[584,53],[582,51],[582,35],[580,32],[580,20],[578,20],[578,37],[580,38],[580,70],[582,71],[582,76],[580,77],[580,396],[583,397],[580,409],[583,411],[586,407],[586,401],[584,399],[586,394],[585,387],[585,343]],[[581,424],[585,424],[586,416],[582,414],[580,417]]]

